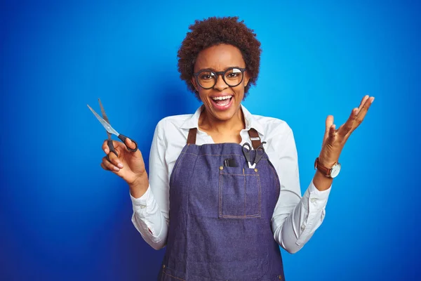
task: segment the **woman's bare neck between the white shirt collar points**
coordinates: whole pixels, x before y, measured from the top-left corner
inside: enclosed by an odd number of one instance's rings
[[[244,122],[241,106],[234,116],[228,120],[216,119],[213,115],[209,114],[205,108],[199,117],[199,127],[209,132],[228,133],[232,131],[241,131],[246,128],[246,123]]]

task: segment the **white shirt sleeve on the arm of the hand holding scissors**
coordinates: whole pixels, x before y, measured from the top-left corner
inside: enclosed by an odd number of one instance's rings
[[[149,187],[142,197],[131,196],[132,223],[154,249],[165,247],[169,222],[168,166],[161,126],[161,122],[156,126],[149,154]]]

